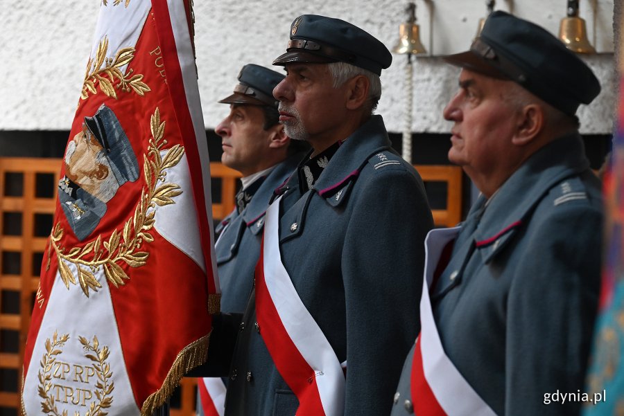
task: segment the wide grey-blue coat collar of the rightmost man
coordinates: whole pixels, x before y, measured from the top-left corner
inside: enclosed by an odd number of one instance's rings
[[[548,143],[530,156],[492,196],[474,233],[476,242],[488,242],[518,226],[555,184],[588,168],[579,134]],[[482,209],[485,202],[481,195],[469,215]]]

